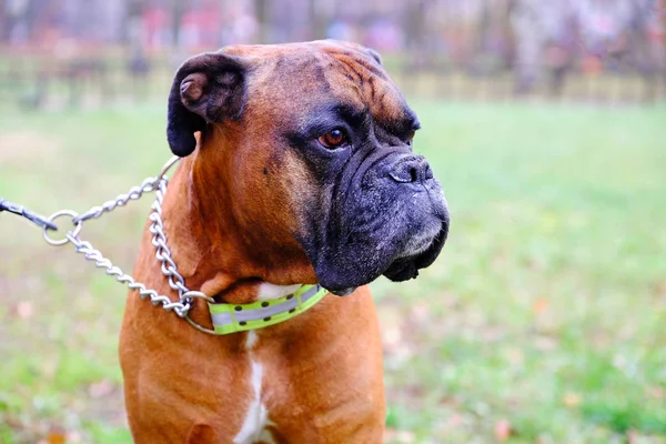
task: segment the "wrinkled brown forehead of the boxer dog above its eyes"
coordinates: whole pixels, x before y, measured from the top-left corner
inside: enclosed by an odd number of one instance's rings
[[[416,121],[377,56],[364,47],[315,41],[230,47],[225,52],[250,60],[250,100],[268,101],[282,114],[292,110],[304,119],[343,105],[351,113],[370,114],[382,127]]]

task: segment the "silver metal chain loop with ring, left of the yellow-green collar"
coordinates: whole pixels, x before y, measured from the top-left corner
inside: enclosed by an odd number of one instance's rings
[[[93,261],[97,268],[105,269],[107,274],[115,276],[115,280],[125,284],[130,290],[139,290],[141,299],[150,297],[153,305],[162,304],[162,309],[173,311],[180,317],[186,317],[188,312],[192,307],[192,297],[208,299],[203,293],[190,291],[185,286],[184,278],[178,272],[178,268],[173,259],[171,259],[171,250],[167,246],[167,235],[164,234],[164,224],[162,222],[162,202],[167,193],[167,184],[169,179],[165,176],[167,171],[179,160],[172,158],[157,178],[148,178],[140,186],[133,186],[127,194],[120,194],[112,201],[104,202],[101,206],[93,206],[83,214],[78,214],[70,210],[62,210],[51,214],[48,219],[53,222],[54,219],[68,215],[71,218],[74,229],[65,234],[62,240],[53,240],[49,236],[47,229],[43,229],[43,235],[51,245],[64,245],[72,243],[78,253],[82,253],[87,260]],[[83,222],[95,219],[103,213],[111,212],[118,206],[124,206],[131,200],[140,199],[144,193],[154,191],[155,201],[153,202],[149,220],[151,225],[149,231],[153,238],[151,243],[155,246],[155,258],[161,262],[162,274],[169,279],[169,286],[176,290],[179,293],[179,302],[173,302],[169,296],[159,294],[154,290],[147,289],[144,284],[137,282],[132,276],[124,273],[119,266],[104,258],[99,250],[95,250],[90,242],[79,239]]]

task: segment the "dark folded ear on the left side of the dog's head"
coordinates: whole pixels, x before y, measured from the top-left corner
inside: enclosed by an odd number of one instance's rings
[[[195,56],[176,71],[171,92],[167,139],[181,158],[196,148],[194,132],[208,123],[239,119],[245,102],[246,68],[240,57],[222,51]]]

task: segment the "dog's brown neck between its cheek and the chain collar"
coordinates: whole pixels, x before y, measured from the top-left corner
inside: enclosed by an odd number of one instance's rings
[[[206,162],[206,168],[198,162]],[[180,163],[168,185],[162,218],[172,258],[188,287],[241,304],[282,297],[300,284],[316,283],[295,241],[280,243],[278,238],[276,245],[274,235],[243,226],[238,216],[242,209],[224,203],[234,201],[229,181],[242,179],[225,171],[223,159],[204,159],[198,150]],[[212,169],[211,163],[221,168]],[[200,199],[204,193],[206,199]]]

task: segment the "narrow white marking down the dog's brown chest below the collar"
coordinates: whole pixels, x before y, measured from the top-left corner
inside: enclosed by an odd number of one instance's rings
[[[287,293],[289,294],[289,293]],[[280,297],[280,296],[279,296]],[[245,342],[245,349],[252,355],[252,347],[256,344],[256,332],[248,332],[248,340]],[[269,431],[265,430],[266,425],[272,425],[269,420],[269,411],[261,403],[261,382],[263,377],[263,366],[251,359],[252,374],[250,375],[250,383],[254,390],[254,397],[250,403],[245,420],[241,431],[233,438],[234,444],[252,444],[256,441],[263,441],[269,444],[273,444],[273,436]]]

